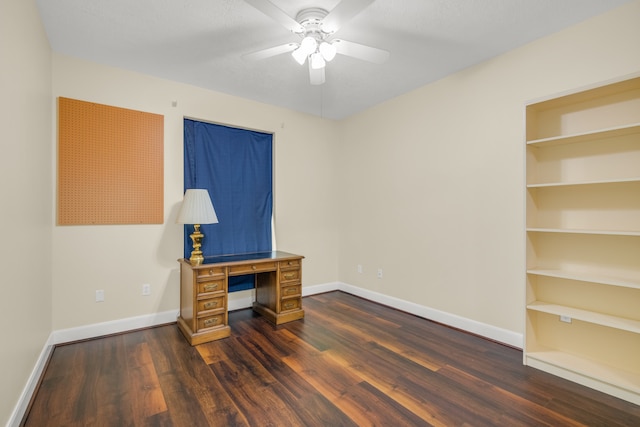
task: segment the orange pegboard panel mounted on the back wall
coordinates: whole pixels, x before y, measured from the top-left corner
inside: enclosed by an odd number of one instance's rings
[[[58,98],[58,224],[162,224],[164,116]]]

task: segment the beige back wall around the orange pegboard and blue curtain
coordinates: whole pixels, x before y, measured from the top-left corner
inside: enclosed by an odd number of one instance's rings
[[[275,134],[278,248],[306,256],[305,284],[338,279],[335,122],[59,54],[53,95],[162,114],[165,124],[164,224],[54,227],[54,330],[177,310],[184,117]],[[95,302],[97,289],[105,302]]]

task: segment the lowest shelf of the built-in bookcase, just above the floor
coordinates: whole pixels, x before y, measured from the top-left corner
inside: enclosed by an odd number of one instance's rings
[[[631,396],[623,393],[615,393],[618,397],[626,398],[636,404],[640,404],[640,374],[630,372],[623,369],[614,368],[609,365],[603,365],[592,360],[578,357],[552,349],[541,349],[528,352],[526,357],[532,359],[529,362],[539,361],[546,365],[552,365],[559,368],[559,371],[572,372],[588,379],[587,383],[598,382],[609,386],[607,388],[618,388],[626,390]],[[536,366],[536,363],[528,363]],[[537,367],[537,366],[536,366]],[[540,367],[543,368],[543,367]],[[558,372],[561,373],[561,372]]]

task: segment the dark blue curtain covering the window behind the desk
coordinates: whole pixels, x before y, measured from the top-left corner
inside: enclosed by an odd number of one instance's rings
[[[184,120],[184,188],[206,188],[218,224],[202,224],[205,257],[271,250],[272,135]],[[193,226],[185,226],[184,256]],[[229,290],[253,287],[235,279]],[[246,283],[245,283],[246,282]]]

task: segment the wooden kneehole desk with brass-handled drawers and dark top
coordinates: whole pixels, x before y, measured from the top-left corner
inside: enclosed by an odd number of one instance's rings
[[[231,334],[228,315],[230,276],[255,275],[253,310],[279,325],[302,319],[302,259],[286,252],[205,257],[193,266],[180,258],[178,327],[191,345]]]

